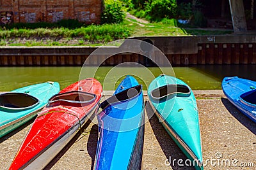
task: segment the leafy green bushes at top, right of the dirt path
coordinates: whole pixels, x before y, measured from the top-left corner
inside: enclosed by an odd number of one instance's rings
[[[138,18],[145,18],[151,22],[180,25],[182,27],[205,27],[207,20],[201,12],[203,8],[200,0],[194,3],[180,3],[175,0],[122,0],[129,8],[129,12]],[[189,20],[189,24],[177,24],[174,18]],[[170,20],[173,19],[173,20]]]

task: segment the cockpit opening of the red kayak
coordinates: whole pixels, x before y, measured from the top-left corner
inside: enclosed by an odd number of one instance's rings
[[[96,95],[81,91],[65,92],[56,94],[49,99],[49,104],[59,102],[59,104],[88,104],[95,101]],[[62,102],[62,103],[60,103]]]

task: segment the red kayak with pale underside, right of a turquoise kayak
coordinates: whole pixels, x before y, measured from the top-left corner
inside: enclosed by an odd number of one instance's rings
[[[97,111],[102,86],[94,78],[78,81],[59,94],[38,114],[10,169],[43,169]]]

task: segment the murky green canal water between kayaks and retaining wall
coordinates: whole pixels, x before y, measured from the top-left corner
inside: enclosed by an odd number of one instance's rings
[[[95,78],[102,83],[104,90],[114,90],[124,78],[124,76],[120,77],[120,74],[128,73],[136,73],[137,80],[146,90],[154,76],[162,73],[157,67],[148,67],[148,70],[141,67],[112,68],[100,67],[95,74]],[[225,76],[239,76],[256,81],[256,65],[202,65],[173,67],[173,70],[175,76],[188,83],[192,89],[221,89],[221,80]],[[81,67],[0,67],[0,91],[9,91],[44,81],[58,81],[63,89],[79,80],[80,71]],[[90,71],[90,67],[87,71]]]

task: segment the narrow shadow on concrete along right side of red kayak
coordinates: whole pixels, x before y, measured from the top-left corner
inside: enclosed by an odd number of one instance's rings
[[[83,127],[81,128],[82,132],[92,123],[92,120],[94,117],[95,117],[95,115],[93,114],[92,117],[90,117],[89,120],[83,125]],[[58,160],[60,160],[61,157],[68,151],[68,149],[77,141],[79,136],[81,136],[81,133],[77,132],[77,134],[74,136],[74,138],[72,138],[68,142],[68,144],[61,150],[61,152],[58,153],[58,155],[56,155],[56,157],[54,157],[54,159],[52,159],[52,161],[47,166],[45,166],[44,170],[51,169],[54,166],[54,164],[56,164],[58,162]]]

